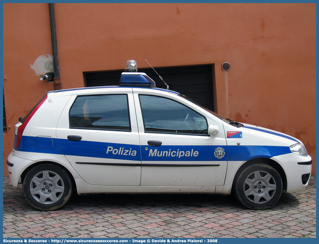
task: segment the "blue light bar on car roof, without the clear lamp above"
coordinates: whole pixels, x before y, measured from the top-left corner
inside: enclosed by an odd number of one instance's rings
[[[122,72],[120,87],[155,87],[155,81],[145,73]]]

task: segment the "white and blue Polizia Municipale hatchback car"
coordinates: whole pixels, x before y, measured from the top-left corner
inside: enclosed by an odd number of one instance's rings
[[[48,92],[15,126],[7,165],[39,210],[62,207],[73,191],[233,191],[258,210],[305,188],[312,159],[296,138],[223,119],[145,73],[123,72],[120,86]]]

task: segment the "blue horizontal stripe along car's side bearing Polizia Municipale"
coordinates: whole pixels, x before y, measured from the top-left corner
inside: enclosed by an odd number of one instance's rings
[[[34,146],[35,137],[22,136],[18,151],[34,153],[64,154],[97,158],[111,158],[132,161],[247,161],[252,158],[271,158],[291,153],[283,146],[139,146],[96,141],[53,140],[53,149],[41,149]],[[76,143],[76,145],[75,145]],[[61,149],[60,149],[61,147]],[[225,156],[218,159],[215,149],[225,150]],[[147,148],[147,150],[145,149]],[[62,152],[62,151],[63,152]],[[142,150],[142,155],[141,155]],[[173,154],[172,154],[173,153]]]

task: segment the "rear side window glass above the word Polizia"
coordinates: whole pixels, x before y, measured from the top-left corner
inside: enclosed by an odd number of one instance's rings
[[[127,95],[78,96],[70,109],[70,128],[130,131]]]

